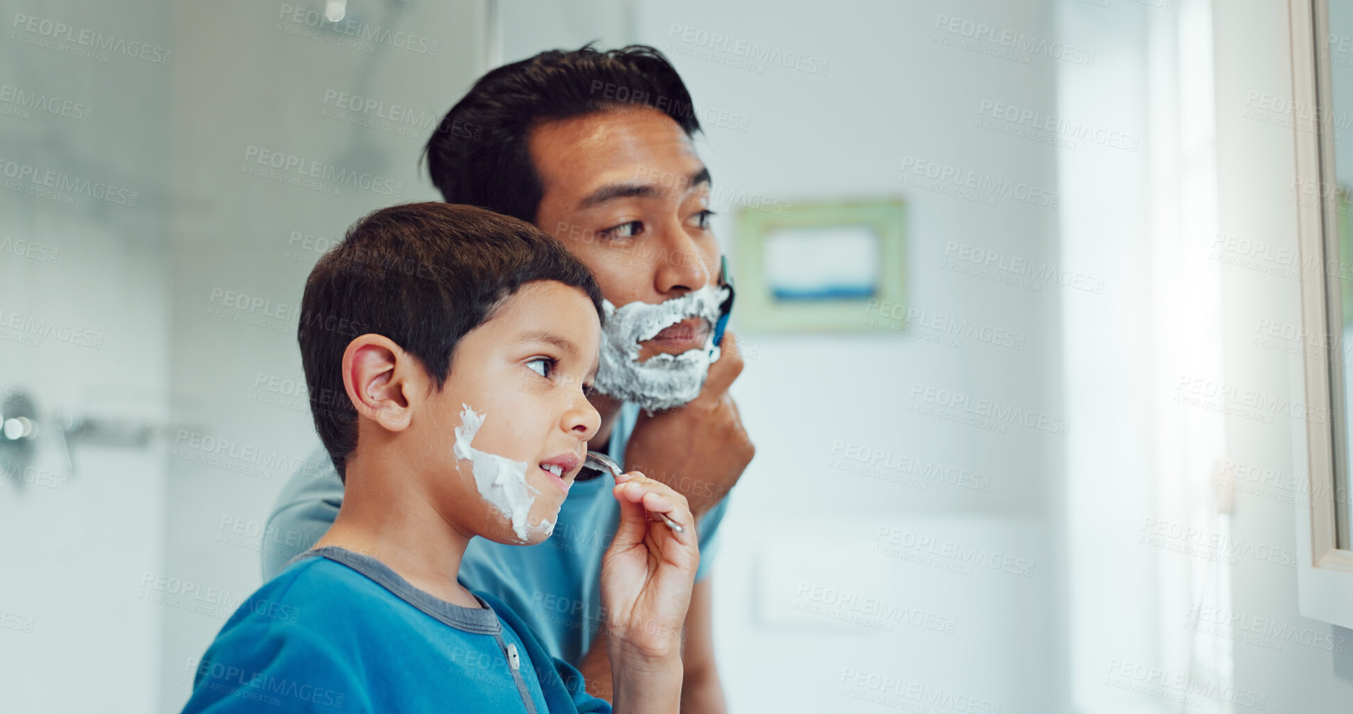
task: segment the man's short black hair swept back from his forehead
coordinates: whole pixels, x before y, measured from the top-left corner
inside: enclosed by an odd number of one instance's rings
[[[428,140],[428,172],[449,203],[536,222],[544,187],[530,163],[532,127],[628,106],[663,111],[687,137],[700,131],[686,84],[656,49],[543,51],[479,77]]]

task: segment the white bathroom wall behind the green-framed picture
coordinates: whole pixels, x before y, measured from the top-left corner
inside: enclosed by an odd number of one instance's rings
[[[981,205],[900,177],[912,157],[1057,191],[1055,148],[977,122],[984,102],[1051,111],[1058,62],[1012,62],[936,42],[962,37],[962,26],[936,28],[940,15],[997,33],[1053,31],[1043,3],[639,3],[636,39],[668,54],[697,110],[746,118],[746,130],[706,121],[701,156],[714,176],[716,210],[731,214],[754,194],[781,205],[900,196],[908,211],[908,306],[1024,336],[1024,348],[1011,350],[976,339],[936,344],[936,333],[915,322],[912,335],[771,335],[739,322],[735,310],[733,329],[755,356],[733,394],[758,455],[732,496],[713,577],[717,656],[737,711],[882,710],[861,696],[886,699],[884,677],[901,683],[904,694],[894,696],[902,703],[917,702],[905,694],[912,684],[912,696],[924,688],[942,702],[962,696],[966,706],[971,698],[1001,711],[1047,711],[1054,700],[1049,503],[1062,438],[924,416],[911,409],[930,404],[911,396],[921,385],[1065,416],[1062,289],[1027,290],[943,267],[948,241],[1055,264],[1057,210],[1007,196]],[[712,49],[710,34],[727,45]],[[804,54],[809,69],[825,62],[825,75],[755,58],[729,64],[746,60],[736,49],[750,43]],[[716,219],[716,232],[725,247],[737,240],[728,215]],[[894,481],[852,473],[835,461],[846,455],[833,453],[838,440],[882,450],[890,461],[977,473],[990,488],[915,477],[919,485],[907,485],[896,469],[878,469]],[[871,551],[894,532],[1023,558],[1034,576],[919,565],[896,557],[919,554],[907,547],[894,557]],[[877,599],[892,612],[911,608],[905,616],[916,612],[920,625],[904,618],[886,631],[878,618],[856,625],[805,612],[850,612],[813,600],[813,587],[858,593],[859,607]],[[878,679],[856,684],[847,671]]]

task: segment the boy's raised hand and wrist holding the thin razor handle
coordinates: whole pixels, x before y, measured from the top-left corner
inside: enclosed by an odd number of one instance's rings
[[[620,526],[601,566],[612,672],[618,683],[621,669],[656,672],[675,663],[679,687],[682,623],[700,565],[695,519],[686,497],[666,484],[637,471],[616,481]],[[666,513],[686,532],[651,512]]]

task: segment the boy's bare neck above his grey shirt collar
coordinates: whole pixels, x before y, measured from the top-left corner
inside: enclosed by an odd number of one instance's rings
[[[442,518],[398,459],[354,453],[348,458],[342,507],[314,547],[369,555],[415,588],[479,607],[456,581],[469,538]]]

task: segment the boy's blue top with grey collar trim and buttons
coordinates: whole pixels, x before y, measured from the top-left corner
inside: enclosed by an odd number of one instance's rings
[[[510,608],[476,599],[452,604],[375,558],[313,550],[226,621],[184,713],[610,713]]]

